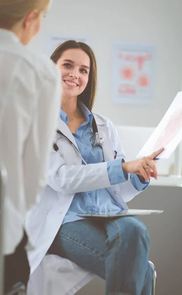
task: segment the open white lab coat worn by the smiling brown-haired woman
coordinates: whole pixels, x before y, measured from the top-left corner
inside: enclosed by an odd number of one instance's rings
[[[28,253],[31,266],[28,295],[73,295],[93,278],[93,274],[67,259],[46,255],[75,193],[106,187],[123,208],[128,208],[126,202],[139,193],[130,182],[130,176],[126,182],[110,185],[107,161],[114,159],[114,150],[118,158],[125,159],[125,154],[113,123],[100,115],[94,114],[94,117],[99,136],[104,138],[104,163],[81,165],[81,158],[68,140],[55,135],[62,157],[52,149],[48,185],[41,194],[40,203],[32,208],[26,220],[26,228],[36,248]],[[68,126],[60,118],[57,129],[77,146]]]

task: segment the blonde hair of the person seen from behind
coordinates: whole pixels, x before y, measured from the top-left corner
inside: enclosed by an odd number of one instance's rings
[[[47,9],[50,0],[0,0],[0,28],[11,29],[34,9]]]

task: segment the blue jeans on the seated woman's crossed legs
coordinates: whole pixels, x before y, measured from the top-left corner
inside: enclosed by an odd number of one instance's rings
[[[49,253],[105,279],[106,295],[151,295],[150,240],[135,217],[84,219],[62,225]]]

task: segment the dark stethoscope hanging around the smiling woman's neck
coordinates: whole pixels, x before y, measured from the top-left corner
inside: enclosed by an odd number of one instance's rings
[[[93,116],[93,119],[92,119],[92,131],[93,131],[93,135],[90,138],[90,143],[91,143],[92,147],[97,147],[97,146],[102,147],[103,143],[104,143],[104,138],[99,138],[98,128],[97,128],[97,124],[96,124],[96,120],[95,120],[94,116]],[[72,145],[72,147],[78,153],[78,155],[81,158],[81,160],[83,161],[83,163],[85,165],[87,165],[85,160],[82,158],[79,149],[72,143],[72,141],[66,135],[64,135],[60,130],[57,129],[56,132],[58,134],[64,136],[67,139],[67,141],[70,143],[70,145]],[[55,151],[57,151],[59,153],[60,157],[62,158],[62,155],[61,155],[61,153],[59,151],[59,148],[56,145],[56,143],[53,143],[53,149]]]

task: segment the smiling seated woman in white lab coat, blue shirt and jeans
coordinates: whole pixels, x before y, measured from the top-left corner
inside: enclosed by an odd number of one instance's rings
[[[126,202],[148,186],[149,178],[157,179],[153,159],[162,149],[125,162],[113,123],[91,112],[97,64],[88,45],[67,41],[51,59],[62,74],[62,104],[48,185],[26,222],[36,247],[29,253],[31,270],[49,252],[105,279],[106,295],[150,295],[153,273],[144,224],[135,217],[98,221],[77,213],[128,208]]]

